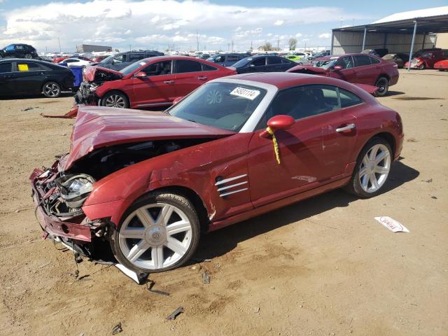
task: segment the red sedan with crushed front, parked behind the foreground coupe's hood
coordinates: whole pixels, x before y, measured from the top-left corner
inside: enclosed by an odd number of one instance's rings
[[[160,56],[141,59],[120,71],[87,67],[77,104],[119,108],[169,106],[209,80],[236,74],[204,59]]]

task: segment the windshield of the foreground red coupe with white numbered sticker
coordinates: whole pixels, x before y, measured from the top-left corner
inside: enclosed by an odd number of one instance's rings
[[[265,97],[266,90],[240,83],[208,83],[167,113],[195,123],[238,132]]]

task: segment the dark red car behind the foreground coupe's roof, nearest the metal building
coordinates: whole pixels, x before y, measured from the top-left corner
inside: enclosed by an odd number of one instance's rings
[[[325,56],[314,59],[311,66],[299,65],[286,72],[310,73],[376,86],[378,90],[374,94],[378,97],[384,96],[389,86],[398,82],[399,76],[395,62],[365,54]]]

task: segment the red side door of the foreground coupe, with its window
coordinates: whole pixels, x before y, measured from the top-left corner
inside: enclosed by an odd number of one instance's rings
[[[290,130],[277,130],[280,164],[267,120],[279,114],[292,116]],[[349,127],[346,132],[337,129]],[[339,130],[340,131],[340,130]],[[248,172],[254,207],[295,195],[339,179],[356,142],[356,118],[341,109],[337,88],[303,85],[276,94],[249,143]]]

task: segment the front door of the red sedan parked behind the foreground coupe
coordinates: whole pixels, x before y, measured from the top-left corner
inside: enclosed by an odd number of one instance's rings
[[[146,76],[133,77],[132,106],[168,106],[178,97],[172,73],[172,59],[154,62],[141,69]],[[141,72],[139,71],[139,72]]]

